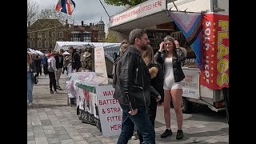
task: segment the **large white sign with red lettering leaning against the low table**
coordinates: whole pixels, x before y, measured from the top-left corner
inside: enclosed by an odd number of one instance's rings
[[[120,134],[122,130],[122,109],[118,100],[113,98],[114,88],[112,86],[98,86],[96,87],[96,93],[103,137]]]

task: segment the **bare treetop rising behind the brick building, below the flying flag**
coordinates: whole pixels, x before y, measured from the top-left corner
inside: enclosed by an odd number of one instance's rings
[[[55,6],[41,10],[38,14],[38,19],[58,19],[59,22],[66,22],[66,19],[70,19],[70,15],[55,10]]]

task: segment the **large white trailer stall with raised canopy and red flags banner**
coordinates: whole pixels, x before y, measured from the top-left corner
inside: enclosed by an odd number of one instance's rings
[[[149,0],[110,17],[109,29],[119,41],[130,30],[146,29],[154,51],[166,35],[178,40],[187,50],[182,67],[182,110],[191,102],[202,103],[211,110],[225,110],[222,89],[229,87],[229,6],[228,1]]]

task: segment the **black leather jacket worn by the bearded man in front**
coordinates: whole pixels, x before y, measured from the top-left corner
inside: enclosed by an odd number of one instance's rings
[[[142,59],[142,53],[129,46],[118,61],[113,98],[135,110],[138,106],[150,105],[150,93],[160,95],[150,86],[150,72]]]

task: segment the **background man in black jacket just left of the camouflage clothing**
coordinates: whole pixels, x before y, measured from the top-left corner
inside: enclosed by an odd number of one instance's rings
[[[70,46],[68,52],[70,54],[72,54],[72,70],[73,70],[73,72],[81,72],[82,64],[80,61],[80,55],[78,54],[77,50],[75,50],[73,46]]]

